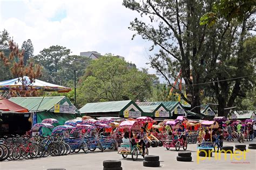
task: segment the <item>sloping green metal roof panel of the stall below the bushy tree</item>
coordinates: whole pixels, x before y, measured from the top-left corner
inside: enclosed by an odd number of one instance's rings
[[[132,100],[87,103],[79,111],[80,113],[120,112],[130,103],[132,103]]]

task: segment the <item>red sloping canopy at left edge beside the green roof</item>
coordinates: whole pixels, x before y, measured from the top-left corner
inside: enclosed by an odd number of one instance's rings
[[[21,113],[29,112],[26,108],[19,106],[16,103],[13,103],[12,101],[2,97],[0,97],[0,111]]]

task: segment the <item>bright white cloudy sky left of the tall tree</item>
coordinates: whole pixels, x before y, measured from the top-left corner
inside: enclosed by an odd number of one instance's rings
[[[0,11],[0,30],[8,30],[19,46],[24,40],[31,39],[35,55],[58,44],[71,49],[74,55],[92,50],[103,55],[111,52],[124,56],[138,67],[149,67],[145,63],[149,62],[146,51],[150,43],[142,38],[131,40],[133,32],[127,28],[139,15],[126,9],[122,0],[0,0],[0,10],[10,8],[9,2],[19,2],[19,5],[14,5],[10,11]],[[52,18],[59,10],[64,10],[66,16],[53,22]],[[12,11],[16,13],[10,13]],[[155,71],[150,69],[150,73]]]

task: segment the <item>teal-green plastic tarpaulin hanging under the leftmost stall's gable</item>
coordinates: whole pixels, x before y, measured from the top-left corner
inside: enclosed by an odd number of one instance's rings
[[[57,119],[59,122],[52,124],[53,126],[64,125],[65,121],[75,118],[75,114],[67,114],[67,113],[38,112],[36,114],[37,114],[37,123],[41,123],[42,120],[47,118]],[[42,127],[42,133],[44,135],[51,135],[51,131],[52,129],[50,128]]]

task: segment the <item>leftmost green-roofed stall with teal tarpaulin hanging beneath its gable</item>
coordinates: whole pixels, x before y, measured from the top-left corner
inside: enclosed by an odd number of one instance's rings
[[[65,96],[55,97],[13,97],[10,101],[25,107],[33,114],[33,125],[41,123],[43,119],[53,118],[59,122],[53,126],[64,125],[65,121],[75,119],[78,109]],[[45,135],[51,134],[49,128],[42,128]]]

